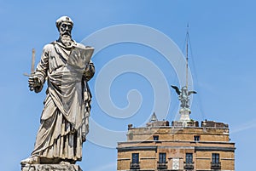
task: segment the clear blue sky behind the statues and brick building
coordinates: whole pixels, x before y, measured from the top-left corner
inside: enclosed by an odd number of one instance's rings
[[[169,57],[155,47],[132,40],[101,47],[106,37],[122,39],[127,35],[116,31],[94,41],[96,33],[132,25],[136,29],[131,39],[140,37],[138,28],[154,30],[155,34],[143,38],[158,43],[159,37],[166,36],[184,53],[188,22],[189,66],[193,88],[198,92],[193,97],[191,118],[229,123],[230,139],[236,142],[236,171],[250,169],[256,153],[255,5],[253,0],[0,1],[2,169],[19,170],[20,160],[33,149],[45,94],[30,92],[23,73],[30,71],[32,48],[36,49],[38,62],[44,45],[57,39],[55,20],[61,15],[73,19],[73,38],[77,42],[91,40],[86,43],[96,46],[92,58],[96,76],[90,81],[94,96],[91,123],[109,133],[90,128],[83,161],[79,162],[83,170],[116,170],[117,151],[108,142],[113,145],[122,140],[128,123],[141,126],[154,111],[159,119],[177,118],[177,95],[168,85],[184,81],[167,60]],[[172,41],[163,40],[155,45],[158,49],[175,48]],[[183,68],[183,60],[175,61]],[[119,75],[111,77],[111,71]],[[112,79],[109,85],[108,78]],[[102,89],[108,90],[110,98],[96,93]],[[158,94],[164,94],[163,98],[157,99]],[[113,106],[107,109],[102,103],[109,101]],[[122,118],[130,109],[132,116]],[[111,110],[113,113],[109,113]]]

